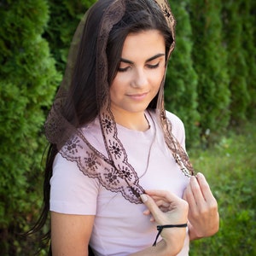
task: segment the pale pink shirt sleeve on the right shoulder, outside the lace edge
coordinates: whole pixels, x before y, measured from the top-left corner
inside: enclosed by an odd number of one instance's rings
[[[185,147],[185,128],[183,121],[177,117],[177,115],[166,111],[166,118],[172,123],[172,134],[177,138],[177,141],[186,150]]]

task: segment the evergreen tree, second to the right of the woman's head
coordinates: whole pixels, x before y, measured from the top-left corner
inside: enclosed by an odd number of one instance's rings
[[[198,111],[201,136],[206,143],[225,131],[229,119],[230,90],[223,46],[221,1],[190,1],[193,61],[198,74]]]

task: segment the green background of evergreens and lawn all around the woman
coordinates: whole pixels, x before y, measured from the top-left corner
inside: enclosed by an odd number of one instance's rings
[[[93,2],[0,0],[0,255],[38,250],[37,236],[20,233],[42,204],[44,120]],[[256,1],[170,3],[177,47],[166,108],[183,119],[189,155],[220,213],[218,234],[191,242],[190,255],[256,255]]]

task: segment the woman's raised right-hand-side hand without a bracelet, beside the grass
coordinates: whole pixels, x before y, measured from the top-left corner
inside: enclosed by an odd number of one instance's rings
[[[218,204],[201,173],[196,177],[190,177],[183,199],[189,203],[190,240],[212,236],[218,232]]]

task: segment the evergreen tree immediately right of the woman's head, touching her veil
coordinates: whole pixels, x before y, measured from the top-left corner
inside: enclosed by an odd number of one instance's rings
[[[169,61],[166,74],[166,109],[176,113],[183,120],[186,129],[187,146],[199,143],[197,112],[197,75],[191,59],[192,31],[187,3],[172,1],[172,12],[177,20],[176,47]]]

